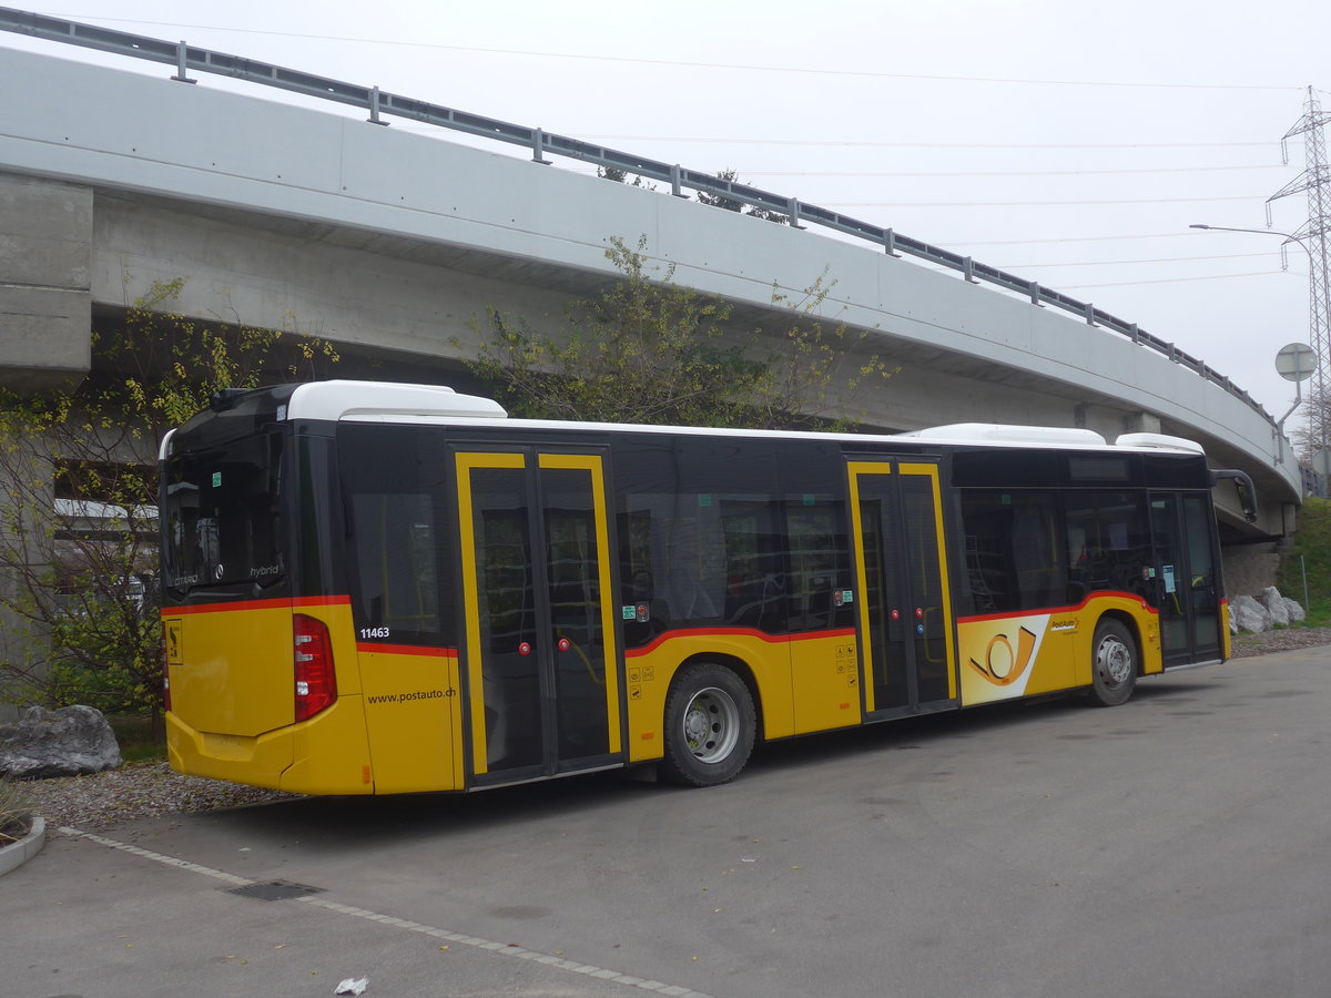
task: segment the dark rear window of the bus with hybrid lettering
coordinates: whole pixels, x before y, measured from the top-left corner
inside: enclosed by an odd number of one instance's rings
[[[200,585],[285,580],[278,530],[282,436],[265,434],[184,454],[166,463],[165,579]]]

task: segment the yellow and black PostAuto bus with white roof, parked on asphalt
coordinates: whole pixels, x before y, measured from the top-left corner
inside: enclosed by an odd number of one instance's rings
[[[518,420],[446,387],[221,393],[161,448],[172,765],[475,790],[1082,691],[1230,652],[1197,444]],[[1242,491],[1242,490],[1240,490]]]

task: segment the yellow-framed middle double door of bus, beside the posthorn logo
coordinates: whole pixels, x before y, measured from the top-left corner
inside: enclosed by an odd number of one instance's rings
[[[938,466],[852,460],[849,476],[865,717],[954,705]]]

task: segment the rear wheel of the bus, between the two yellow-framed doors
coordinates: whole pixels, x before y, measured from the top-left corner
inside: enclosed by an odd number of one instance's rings
[[[684,786],[729,782],[748,762],[756,728],[744,680],[724,665],[687,665],[666,697],[662,774]]]

